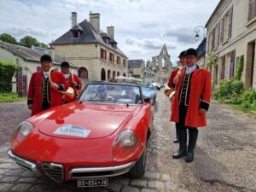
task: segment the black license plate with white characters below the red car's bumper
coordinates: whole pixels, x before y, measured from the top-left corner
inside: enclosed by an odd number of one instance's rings
[[[105,186],[108,186],[108,178],[91,178],[78,180],[78,188]]]

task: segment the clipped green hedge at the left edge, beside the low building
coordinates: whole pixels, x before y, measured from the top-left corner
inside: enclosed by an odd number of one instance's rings
[[[10,61],[0,61],[0,92],[12,91],[12,78],[18,66]]]

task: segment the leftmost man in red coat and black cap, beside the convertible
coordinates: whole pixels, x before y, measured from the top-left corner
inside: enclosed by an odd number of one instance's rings
[[[42,72],[32,73],[27,93],[27,105],[32,110],[32,115],[61,105],[63,100],[59,90],[68,88],[67,80],[62,73],[54,71],[49,74],[52,67],[49,55],[42,55],[40,62]],[[52,84],[49,83],[49,75],[54,82]]]

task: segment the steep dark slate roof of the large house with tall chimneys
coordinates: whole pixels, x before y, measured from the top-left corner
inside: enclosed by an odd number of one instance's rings
[[[74,28],[77,28],[78,26],[79,26],[79,30],[81,28],[83,32],[80,33],[79,38],[72,38],[72,30]],[[97,32],[95,31],[93,26],[90,25],[90,22],[88,20],[83,20],[77,26],[74,26],[73,29],[64,33],[60,38],[55,39],[55,41],[51,44],[53,45],[55,44],[93,44],[93,43],[102,44],[108,47],[108,49],[111,49],[114,52],[117,52],[120,55],[123,55],[125,56],[125,58],[127,58],[127,56],[121,51],[121,49],[119,49],[118,46],[116,49],[114,49],[110,44],[106,44],[102,38],[104,37],[110,38],[108,34],[105,32],[102,32],[102,30],[100,34],[97,34]],[[113,38],[110,38],[109,42],[116,43],[116,41]]]

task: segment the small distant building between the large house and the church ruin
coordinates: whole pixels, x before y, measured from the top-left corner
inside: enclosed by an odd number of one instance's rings
[[[143,60],[128,60],[128,73],[129,77],[134,77],[137,79],[143,79],[145,61]]]

